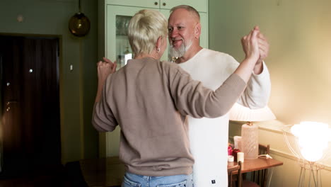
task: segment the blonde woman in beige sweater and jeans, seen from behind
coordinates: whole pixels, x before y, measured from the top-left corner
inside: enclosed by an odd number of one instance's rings
[[[168,35],[160,12],[142,10],[134,15],[129,23],[134,60],[117,72],[110,61],[98,63],[92,120],[103,132],[120,125],[120,159],[127,169],[122,186],[192,186],[194,159],[185,116],[216,118],[228,112],[260,56],[258,32],[252,30],[243,38],[245,60],[212,91],[177,64],[160,62]]]

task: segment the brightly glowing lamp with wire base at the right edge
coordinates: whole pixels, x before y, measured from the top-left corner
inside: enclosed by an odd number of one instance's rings
[[[296,125],[286,125],[283,128],[286,145],[289,147],[301,166],[298,186],[322,186],[320,170],[323,161],[330,156],[327,150],[331,130],[325,123],[304,121]],[[308,179],[306,179],[308,174]]]

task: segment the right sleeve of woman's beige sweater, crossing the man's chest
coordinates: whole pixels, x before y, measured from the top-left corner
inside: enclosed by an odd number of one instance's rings
[[[245,89],[245,81],[232,74],[224,83],[213,91],[194,81],[190,74],[178,67],[176,73],[170,75],[170,90],[175,106],[182,115],[194,118],[216,118],[225,115]]]

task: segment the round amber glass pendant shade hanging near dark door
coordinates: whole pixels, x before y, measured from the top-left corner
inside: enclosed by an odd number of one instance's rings
[[[69,20],[70,33],[78,37],[87,35],[90,31],[90,28],[90,20],[81,12],[75,13],[75,15],[72,16]]]

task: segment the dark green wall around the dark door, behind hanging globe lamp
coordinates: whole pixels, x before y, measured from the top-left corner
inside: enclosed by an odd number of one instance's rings
[[[0,33],[56,35],[61,38],[60,108],[62,162],[98,157],[98,132],[91,125],[96,91],[97,1],[81,0],[91,21],[83,38],[69,33],[68,21],[79,11],[78,0],[1,0]],[[16,17],[21,14],[24,21]],[[70,65],[73,71],[70,71]]]

